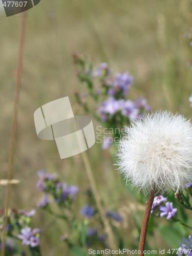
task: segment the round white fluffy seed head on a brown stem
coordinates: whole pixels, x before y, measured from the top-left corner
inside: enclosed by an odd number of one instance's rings
[[[182,189],[192,181],[192,125],[167,111],[147,114],[125,127],[117,156],[120,173],[139,190]]]

